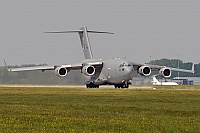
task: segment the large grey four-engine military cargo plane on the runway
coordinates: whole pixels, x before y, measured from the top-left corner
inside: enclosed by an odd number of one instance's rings
[[[148,64],[134,63],[123,59],[98,60],[93,59],[92,50],[88,38],[88,33],[106,33],[111,32],[89,31],[87,27],[82,27],[75,31],[63,32],[46,32],[46,33],[71,33],[77,32],[80,36],[81,46],[85,60],[78,64],[56,65],[56,66],[37,66],[24,68],[9,68],[8,71],[32,71],[32,70],[54,70],[55,74],[64,77],[71,70],[80,70],[81,73],[88,78],[86,82],[87,88],[99,88],[100,85],[114,85],[115,88],[128,88],[133,79],[134,71],[142,76],[149,76],[151,71],[158,71],[159,75],[164,78],[171,76],[171,71],[181,71],[194,73],[193,70],[170,68],[166,66],[156,66]]]

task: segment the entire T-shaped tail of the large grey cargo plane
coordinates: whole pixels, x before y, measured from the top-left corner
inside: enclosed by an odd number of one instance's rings
[[[111,32],[101,32],[101,31],[88,31],[87,27],[82,27],[79,30],[73,30],[73,31],[62,31],[62,32],[45,32],[45,33],[71,33],[71,32],[78,32],[81,40],[81,46],[83,48],[83,53],[85,56],[85,59],[92,59],[92,49],[89,42],[88,32],[91,33],[106,33],[106,34],[114,34]]]

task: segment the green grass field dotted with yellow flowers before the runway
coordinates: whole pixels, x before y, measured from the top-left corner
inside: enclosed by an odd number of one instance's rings
[[[0,132],[200,132],[200,91],[0,87]]]

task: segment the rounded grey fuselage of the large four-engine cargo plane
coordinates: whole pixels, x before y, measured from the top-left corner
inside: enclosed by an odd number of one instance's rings
[[[126,88],[133,78],[134,69],[129,61],[109,59],[102,61],[102,66],[96,68],[95,71],[94,75],[87,76],[90,83],[94,85],[109,84]]]

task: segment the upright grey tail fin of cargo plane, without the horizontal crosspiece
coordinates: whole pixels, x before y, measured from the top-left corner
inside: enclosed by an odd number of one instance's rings
[[[83,49],[85,59],[92,59],[93,55],[92,55],[92,50],[91,50],[91,46],[90,46],[90,42],[88,38],[87,27],[82,27],[80,30],[82,32],[79,32],[79,36],[80,36],[81,46]]]

